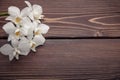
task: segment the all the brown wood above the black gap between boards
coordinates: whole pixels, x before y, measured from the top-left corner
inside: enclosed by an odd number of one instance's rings
[[[30,0],[41,4],[51,30],[46,37],[119,37],[119,0]],[[0,11],[11,5],[25,7],[23,0],[1,0]],[[0,27],[4,20],[0,18]],[[3,30],[0,29],[0,33]],[[1,34],[0,36],[5,36]]]

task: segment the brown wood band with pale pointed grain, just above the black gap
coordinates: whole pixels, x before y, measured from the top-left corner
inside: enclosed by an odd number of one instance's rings
[[[44,23],[50,26],[46,37],[120,37],[120,14],[45,14]],[[54,15],[54,17],[53,17]],[[53,17],[53,18],[51,18]],[[6,36],[0,18],[0,37]]]

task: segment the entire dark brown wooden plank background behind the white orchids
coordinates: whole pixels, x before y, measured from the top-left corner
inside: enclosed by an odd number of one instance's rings
[[[0,54],[0,80],[120,80],[120,0],[29,0],[50,26],[37,53],[9,62]],[[24,0],[0,0],[0,12]],[[0,17],[0,47],[7,42]]]

